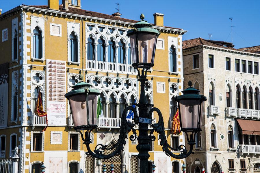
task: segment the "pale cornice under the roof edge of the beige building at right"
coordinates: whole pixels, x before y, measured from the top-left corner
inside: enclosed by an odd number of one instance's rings
[[[233,53],[233,54],[260,57],[260,54],[257,54],[257,53],[244,52],[244,51],[232,50],[232,49],[225,49],[225,48],[221,48],[221,47],[214,47],[214,46],[208,46],[208,45],[200,45],[200,46],[196,46],[196,47],[192,47],[192,48],[187,48],[187,49],[183,50],[183,53],[191,52],[191,51],[202,49],[202,48],[209,49],[209,50],[217,50],[217,51],[222,51],[222,52],[227,52],[227,53]]]

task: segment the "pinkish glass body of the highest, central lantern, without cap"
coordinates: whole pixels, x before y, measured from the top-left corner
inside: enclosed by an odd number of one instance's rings
[[[138,50],[136,50],[136,35],[138,39]],[[157,35],[148,33],[137,33],[130,36],[132,62],[154,64],[155,46]],[[138,55],[138,56],[137,56]]]

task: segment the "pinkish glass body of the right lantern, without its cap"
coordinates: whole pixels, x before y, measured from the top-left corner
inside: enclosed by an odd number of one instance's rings
[[[201,119],[204,102],[201,103],[201,106],[200,102],[201,100],[180,100],[179,110],[181,113],[182,128],[201,128]],[[200,124],[198,124],[199,120]]]

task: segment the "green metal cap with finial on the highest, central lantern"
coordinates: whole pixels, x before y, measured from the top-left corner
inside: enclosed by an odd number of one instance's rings
[[[144,20],[144,14],[141,14],[140,21],[133,25],[134,29],[130,29],[127,31],[127,36],[129,37],[136,32],[140,33],[150,33],[154,35],[160,35],[161,33],[156,29],[151,28],[153,25]]]

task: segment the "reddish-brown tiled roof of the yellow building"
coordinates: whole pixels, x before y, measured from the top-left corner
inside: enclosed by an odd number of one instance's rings
[[[25,6],[41,8],[41,9],[49,9],[47,5],[25,5]],[[62,5],[59,6],[59,9],[60,9],[61,12],[71,13],[71,14],[79,14],[79,15],[84,15],[84,16],[92,16],[92,17],[97,17],[97,18],[117,20],[117,21],[130,22],[130,23],[138,22],[137,20],[131,20],[131,19],[126,19],[126,18],[116,17],[116,16],[112,16],[112,15],[108,15],[108,14],[92,12],[92,11],[88,11],[88,10],[84,10],[84,9],[78,9],[78,8],[69,7],[69,10],[64,10]],[[154,24],[152,24],[152,25],[154,25]],[[182,30],[181,28],[173,28],[173,27],[168,27],[168,26],[164,26],[164,27],[170,28],[170,29]]]

